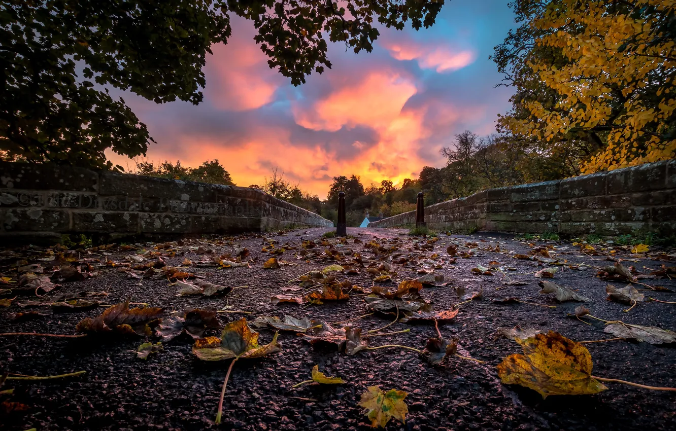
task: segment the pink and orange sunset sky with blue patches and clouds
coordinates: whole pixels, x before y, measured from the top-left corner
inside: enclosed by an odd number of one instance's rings
[[[432,28],[382,28],[372,53],[333,44],[333,69],[294,87],[268,68],[251,23],[235,17],[228,44],[207,59],[203,103],[124,100],[157,141],[148,161],[218,159],[239,186],[261,184],[277,167],[322,199],[333,176],[397,184],[443,166],[439,149],[454,134],[495,130],[510,90],[493,88],[502,77],[488,56],[513,19],[507,0],[447,1]]]

